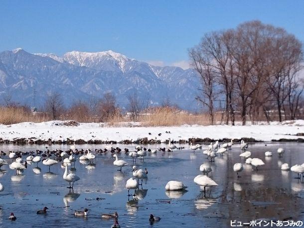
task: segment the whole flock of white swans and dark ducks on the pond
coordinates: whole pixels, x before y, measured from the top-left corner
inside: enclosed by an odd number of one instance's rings
[[[219,144],[219,141],[216,141],[215,143],[210,143],[206,150],[203,150],[203,154],[205,154],[207,159],[209,159],[210,162],[215,162],[215,158],[217,156],[223,156],[224,153],[227,153],[231,150],[232,145],[234,145],[233,139],[231,139],[228,143]],[[202,150],[202,144],[192,144],[190,143],[190,150],[193,150],[193,153],[197,150]],[[47,147],[46,147],[47,148]],[[241,140],[240,143],[240,149],[242,150],[242,153],[239,155],[241,158],[244,159],[244,162],[246,164],[251,164],[253,167],[255,167],[256,171],[258,171],[258,167],[264,165],[265,163],[263,160],[259,158],[252,157],[252,153],[250,151],[247,151],[248,143],[244,142],[244,140]],[[136,165],[136,159],[141,159],[144,161],[144,158],[147,156],[147,152],[150,153],[156,153],[158,151],[167,151],[172,152],[174,149],[184,149],[184,147],[176,147],[172,142],[171,138],[169,138],[169,144],[168,148],[158,148],[158,149],[147,149],[143,147],[142,145],[137,145],[135,147],[135,150],[129,151],[128,148],[125,148],[123,152],[130,156],[133,161],[133,169],[132,169],[132,177],[129,178],[126,182],[126,189],[128,190],[128,196],[136,196],[136,190],[139,189],[140,185],[143,185],[143,180],[148,178],[148,170],[140,169]],[[30,152],[21,152],[21,151],[9,151],[8,154],[1,151],[0,156],[8,156],[9,159],[11,159],[11,163],[9,164],[9,168],[12,170],[15,170],[16,175],[20,175],[23,173],[24,169],[27,168],[27,163],[34,163],[38,167],[38,163],[42,161],[42,164],[50,167],[57,164],[58,162],[62,162],[61,166],[64,168],[63,173],[63,180],[67,181],[69,183],[69,186],[67,188],[73,189],[74,183],[80,180],[80,177],[78,177],[75,172],[71,171],[72,168],[68,169],[68,166],[74,166],[75,162],[79,160],[80,162],[86,161],[89,162],[89,164],[93,164],[94,159],[96,158],[96,154],[98,153],[106,153],[111,152],[111,157],[115,158],[113,165],[119,167],[119,171],[122,171],[122,168],[125,166],[130,165],[127,161],[121,160],[118,157],[118,154],[122,152],[122,149],[119,147],[114,148],[113,144],[105,149],[95,149],[95,153],[93,153],[90,149],[78,150],[76,148],[75,143],[70,146],[70,149],[67,151],[62,151],[59,149],[50,151],[47,149],[46,151],[36,150],[30,151]],[[283,148],[278,148],[277,153],[279,154],[279,157],[282,157],[284,154]],[[22,156],[27,155],[26,159],[23,161]],[[266,151],[265,156],[272,156],[273,153],[271,151]],[[78,157],[78,158],[77,158]],[[0,169],[3,165],[8,164],[6,160],[0,158]],[[281,166],[282,170],[291,170],[292,172],[295,172],[298,174],[296,178],[304,179],[304,163],[302,165],[294,165],[291,168],[289,167],[289,164],[284,163]],[[34,170],[34,169],[33,169]],[[197,175],[194,177],[193,181],[197,185],[200,186],[201,191],[205,194],[206,193],[206,187],[212,187],[217,186],[217,183],[212,180],[210,177],[208,177],[208,174],[212,172],[212,168],[210,166],[210,163],[203,163],[200,165],[199,170],[203,173],[202,175]],[[40,169],[41,171],[41,169]],[[237,177],[241,177],[239,173],[243,171],[243,164],[242,163],[235,163],[233,166],[233,171],[236,173]],[[35,172],[35,171],[34,171]],[[39,169],[37,170],[39,172]],[[141,180],[141,183],[140,183]],[[165,185],[166,191],[183,191],[187,188],[186,185],[184,185],[181,181],[171,180]],[[0,183],[0,192],[3,191],[4,187]],[[130,194],[130,190],[134,190],[134,194]],[[43,210],[37,211],[37,214],[46,214],[47,213],[47,207],[44,207]],[[74,211],[74,216],[76,217],[86,217],[88,216],[88,209],[84,209],[82,211]],[[104,219],[114,219],[114,224],[112,228],[120,228],[120,225],[118,223],[118,213],[115,212],[114,214],[102,214],[102,218]],[[14,221],[16,220],[16,217],[13,213],[10,214],[9,219]],[[151,223],[158,222],[160,220],[159,217],[154,217],[153,215],[150,215],[149,221]]]

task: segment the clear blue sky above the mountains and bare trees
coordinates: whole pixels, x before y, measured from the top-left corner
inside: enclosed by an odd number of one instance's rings
[[[304,42],[304,0],[0,0],[0,51],[113,50],[185,66],[187,49],[205,32],[253,19]]]

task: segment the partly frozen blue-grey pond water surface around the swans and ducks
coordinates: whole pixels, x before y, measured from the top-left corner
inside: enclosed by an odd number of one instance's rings
[[[74,193],[66,187],[63,180],[64,169],[60,163],[48,167],[39,163],[29,164],[23,175],[15,176],[15,171],[8,165],[1,167],[0,183],[4,190],[0,193],[0,227],[111,227],[113,220],[101,219],[102,213],[119,214],[121,227],[230,227],[230,220],[249,222],[255,219],[294,221],[304,220],[304,183],[295,179],[295,173],[281,171],[282,163],[290,167],[304,163],[304,144],[301,143],[255,143],[248,150],[251,157],[265,162],[258,171],[251,165],[244,164],[244,170],[237,178],[233,172],[234,163],[241,162],[241,150],[236,144],[223,157],[216,157],[211,178],[218,186],[207,188],[206,196],[200,192],[193,178],[202,174],[199,166],[208,162],[202,150],[195,153],[190,150],[174,152],[157,151],[148,153],[144,162],[139,159],[136,165],[147,167],[149,174],[143,188],[137,192],[136,199],[130,197],[125,189],[126,181],[132,177],[132,165],[117,171],[113,165],[111,152],[98,154],[96,165],[88,166],[76,162],[76,174],[81,178],[74,185]],[[35,146],[35,147],[34,147]],[[79,145],[80,148],[104,148],[106,145]],[[135,145],[114,145],[114,147],[133,149]],[[167,145],[146,145],[147,148]],[[177,145],[179,146],[179,145]],[[184,145],[186,148],[189,145]],[[283,147],[285,153],[278,157],[277,148]],[[50,150],[66,145],[51,145]],[[204,147],[203,147],[204,148]],[[1,144],[0,150],[29,151],[41,149],[43,145],[16,146]],[[265,157],[265,151],[273,151],[272,157]],[[26,156],[24,156],[25,159]],[[123,151],[120,159],[132,164],[132,159]],[[7,158],[1,157],[10,162]],[[169,180],[179,180],[188,186],[187,192],[166,192],[164,186]],[[133,190],[131,190],[133,193]],[[101,198],[102,200],[96,200]],[[37,210],[49,208],[46,215],[36,215]],[[67,207],[68,206],[68,207]],[[73,210],[89,209],[86,219],[75,218]],[[17,217],[15,222],[7,218],[10,212]],[[149,215],[159,216],[160,222],[150,224]]]

